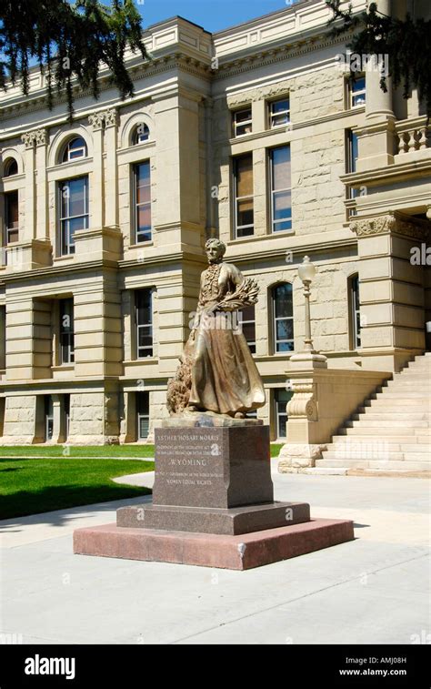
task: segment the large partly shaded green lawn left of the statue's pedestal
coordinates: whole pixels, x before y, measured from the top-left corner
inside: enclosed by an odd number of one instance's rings
[[[148,495],[151,491],[146,488],[112,481],[144,471],[154,471],[154,462],[70,457],[0,459],[0,519]]]

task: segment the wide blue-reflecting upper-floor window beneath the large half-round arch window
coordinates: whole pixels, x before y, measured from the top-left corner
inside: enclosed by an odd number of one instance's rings
[[[75,232],[88,228],[88,177],[60,183],[60,209],[61,253],[75,254]]]

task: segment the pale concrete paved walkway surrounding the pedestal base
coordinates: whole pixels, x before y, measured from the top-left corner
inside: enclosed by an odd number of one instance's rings
[[[134,477],[152,481],[152,474]],[[274,475],[356,541],[248,572],[89,558],[75,528],[128,500],[0,522],[2,627],[24,643],[411,643],[429,623],[429,484]]]

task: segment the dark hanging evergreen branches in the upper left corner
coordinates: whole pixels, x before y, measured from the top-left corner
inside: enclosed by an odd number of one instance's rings
[[[98,76],[107,66],[122,98],[134,86],[125,67],[125,51],[148,56],[142,41],[142,19],[133,0],[0,0],[0,87],[7,80],[29,90],[29,64],[36,59],[46,76],[48,106],[55,92],[65,92],[69,116],[74,89],[99,95]]]

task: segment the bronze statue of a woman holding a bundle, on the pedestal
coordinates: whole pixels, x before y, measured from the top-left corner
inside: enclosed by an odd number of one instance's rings
[[[209,267],[201,276],[195,324],[175,379],[168,383],[171,415],[214,412],[244,418],[265,404],[265,390],[238,319],[256,304],[258,288],[231,263],[219,239],[205,244]]]

